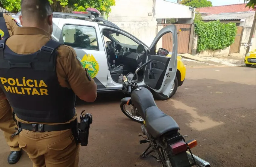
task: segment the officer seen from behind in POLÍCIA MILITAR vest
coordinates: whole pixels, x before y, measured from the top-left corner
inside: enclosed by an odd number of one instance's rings
[[[21,0],[22,27],[0,41],[0,91],[14,109],[19,147],[33,166],[73,167],[79,158],[74,94],[94,102],[97,86],[74,49],[51,39],[52,17],[48,0]]]

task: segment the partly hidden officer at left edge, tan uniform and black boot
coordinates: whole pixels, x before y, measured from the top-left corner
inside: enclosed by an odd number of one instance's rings
[[[0,12],[0,36],[2,39],[12,36],[18,26],[20,25],[10,15]],[[17,163],[21,157],[17,136],[11,137],[16,131],[15,127],[17,128],[8,100],[0,100],[0,129],[4,132],[6,142],[11,150],[8,156],[9,164]]]

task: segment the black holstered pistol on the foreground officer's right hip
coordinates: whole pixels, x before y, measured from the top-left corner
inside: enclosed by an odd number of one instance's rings
[[[90,125],[93,123],[93,116],[89,113],[83,114],[84,111],[82,111],[80,122],[77,124],[78,142],[81,146],[87,146]]]

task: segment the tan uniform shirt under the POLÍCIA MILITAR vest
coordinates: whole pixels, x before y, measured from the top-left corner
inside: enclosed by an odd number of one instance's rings
[[[31,54],[40,50],[50,39],[51,35],[43,29],[35,27],[18,27],[15,30],[14,35],[6,41],[6,45],[15,53]],[[86,75],[87,71],[77,60],[75,50],[70,46],[62,45],[59,46],[57,51],[59,54],[56,59],[56,73],[59,84],[62,87],[71,88],[77,96],[86,94],[86,92],[93,87],[94,80],[91,79],[90,81],[88,79]],[[2,89],[0,89],[0,94],[1,92],[3,92]],[[77,115],[70,121],[73,121],[75,118],[77,118]],[[17,118],[17,116],[16,119],[19,122],[27,124],[40,123],[26,122]]]

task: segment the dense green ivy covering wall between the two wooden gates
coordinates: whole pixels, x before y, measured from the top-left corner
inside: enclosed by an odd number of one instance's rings
[[[206,49],[224,49],[235,42],[236,26],[235,23],[195,22],[195,32],[198,35],[197,52]]]

